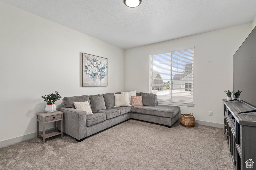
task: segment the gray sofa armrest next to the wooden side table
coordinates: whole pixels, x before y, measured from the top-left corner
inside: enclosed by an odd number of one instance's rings
[[[64,133],[77,140],[87,137],[86,111],[65,107],[58,107],[57,110],[64,113]],[[58,129],[59,126],[58,123]]]

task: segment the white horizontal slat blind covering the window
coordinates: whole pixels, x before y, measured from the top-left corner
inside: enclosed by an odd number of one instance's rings
[[[194,49],[150,55],[150,92],[158,101],[193,103]]]

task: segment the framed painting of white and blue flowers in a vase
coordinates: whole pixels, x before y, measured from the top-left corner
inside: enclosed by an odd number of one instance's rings
[[[82,53],[82,86],[108,86],[108,59]]]

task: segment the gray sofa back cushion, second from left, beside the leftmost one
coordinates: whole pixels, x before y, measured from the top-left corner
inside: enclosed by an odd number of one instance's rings
[[[92,112],[106,109],[103,95],[91,95],[89,96],[91,102]]]

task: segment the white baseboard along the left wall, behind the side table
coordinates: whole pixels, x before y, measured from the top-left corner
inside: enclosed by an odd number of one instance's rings
[[[54,127],[46,129],[46,130],[51,130],[51,129],[54,129]],[[42,130],[39,131],[39,133],[42,133]],[[3,141],[0,141],[0,148],[8,146],[8,145],[12,145],[14,143],[22,142],[22,141],[25,141],[25,140],[28,140],[28,139],[32,139],[32,138],[35,138],[35,137],[36,137],[36,132],[30,133],[30,134],[27,134],[27,135],[23,135],[23,136],[19,136],[19,137],[15,137],[15,138],[12,138],[12,139],[3,140]]]

